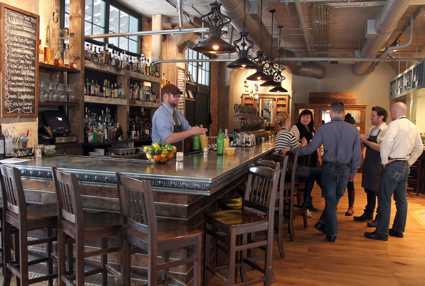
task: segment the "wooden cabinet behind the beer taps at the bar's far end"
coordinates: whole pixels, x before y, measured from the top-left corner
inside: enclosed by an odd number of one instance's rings
[[[275,128],[275,118],[279,112],[288,112],[289,95],[260,94],[258,99],[250,98],[249,94],[242,94],[242,104],[256,107],[258,116],[264,120],[264,128]],[[274,131],[274,130],[272,130]]]

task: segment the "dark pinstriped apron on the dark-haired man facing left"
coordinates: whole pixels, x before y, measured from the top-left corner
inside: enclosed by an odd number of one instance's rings
[[[381,130],[376,136],[369,136],[369,141],[378,143],[377,138]],[[366,147],[365,160],[362,167],[362,188],[369,189],[378,193],[379,181],[382,173],[381,154],[370,147]]]

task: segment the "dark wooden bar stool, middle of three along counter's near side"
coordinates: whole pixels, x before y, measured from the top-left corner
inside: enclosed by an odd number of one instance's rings
[[[105,211],[83,210],[79,192],[77,176],[73,173],[60,171],[52,167],[54,188],[57,196],[58,222],[58,285],[83,286],[86,276],[102,273],[102,286],[108,284],[108,272],[120,276],[119,272],[107,265],[108,253],[119,252],[120,247],[108,248],[108,237],[120,236],[121,222],[119,215]],[[65,234],[75,240],[76,275],[67,275],[65,272]],[[101,248],[94,251],[85,251],[84,242],[91,239],[100,239]],[[84,271],[84,258],[100,255],[101,267]],[[68,251],[68,258],[72,251]],[[68,259],[68,264],[72,264]],[[68,265],[73,269],[72,265]],[[74,283],[75,280],[75,283]]]

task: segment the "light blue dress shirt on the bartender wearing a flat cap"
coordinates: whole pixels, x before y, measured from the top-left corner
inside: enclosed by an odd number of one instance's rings
[[[183,127],[183,131],[192,129],[186,118],[177,109],[174,109],[180,125]],[[153,114],[152,118],[152,142],[161,141],[164,143],[171,134],[174,133],[174,119],[173,119],[173,108],[168,107],[166,104],[161,106]]]

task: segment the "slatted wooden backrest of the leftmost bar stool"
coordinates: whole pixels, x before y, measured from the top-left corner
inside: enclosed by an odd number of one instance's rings
[[[26,200],[23,191],[21,175],[15,167],[0,165],[0,181],[3,195],[3,212],[6,210],[17,213],[18,217],[23,217],[26,221]]]

